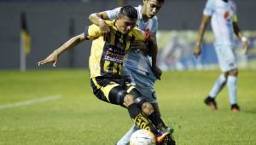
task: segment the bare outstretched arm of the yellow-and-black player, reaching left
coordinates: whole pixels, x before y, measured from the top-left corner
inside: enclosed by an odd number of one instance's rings
[[[79,34],[71,39],[69,39],[65,44],[62,44],[61,47],[55,49],[49,56],[47,56],[43,61],[38,62],[38,66],[53,63],[53,67],[56,67],[58,62],[58,56],[63,52],[67,51],[67,49],[72,49],[77,44],[80,44],[85,40],[84,33]]]

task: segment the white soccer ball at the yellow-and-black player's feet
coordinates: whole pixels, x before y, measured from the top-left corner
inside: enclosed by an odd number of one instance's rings
[[[155,145],[155,136],[148,130],[137,130],[130,138],[130,145]]]

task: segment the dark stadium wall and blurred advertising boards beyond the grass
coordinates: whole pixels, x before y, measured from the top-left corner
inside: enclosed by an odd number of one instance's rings
[[[205,2],[205,0],[166,0],[158,14],[160,21],[158,36],[160,51],[168,47],[171,50],[170,54],[165,56],[166,60],[161,55],[162,59],[158,61],[162,69],[216,67],[216,57],[208,57],[215,55],[214,50],[211,49],[213,41],[211,34],[206,37],[207,44],[203,49],[206,55],[199,60],[195,60],[191,55]],[[142,1],[126,0],[123,3],[137,6]],[[250,38],[252,48],[249,55],[239,57],[241,58],[239,60],[242,67],[254,68],[255,65],[247,65],[250,64],[247,61],[253,61],[256,57],[256,35],[253,32],[256,26],[256,20],[253,19],[256,14],[254,9],[256,1],[243,0],[236,3],[239,25]],[[20,13],[26,13],[27,28],[32,38],[32,49],[26,56],[26,67],[31,69],[37,67],[39,60],[66,42],[68,38],[83,32],[84,26],[90,25],[89,14],[113,9],[120,4],[120,0],[0,0],[0,69],[20,67]],[[237,46],[239,46],[238,42]],[[77,49],[62,55],[59,67],[87,68],[89,55],[90,42],[84,42]]]

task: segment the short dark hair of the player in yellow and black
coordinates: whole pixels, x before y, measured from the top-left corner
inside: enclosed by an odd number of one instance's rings
[[[137,9],[131,5],[125,5],[120,9],[119,16],[127,16],[130,19],[137,19]]]

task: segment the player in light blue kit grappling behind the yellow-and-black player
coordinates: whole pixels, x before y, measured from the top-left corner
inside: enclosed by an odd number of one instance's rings
[[[157,12],[160,10],[164,0],[143,0],[143,5],[135,7],[138,13],[137,26],[146,32],[150,32],[154,39],[154,49],[148,50],[144,42],[132,44],[131,53],[126,56],[122,75],[131,80],[131,84],[136,85],[137,90],[151,102],[154,109],[160,115],[157,98],[155,96],[154,82],[161,76],[161,70],[156,66],[157,43],[156,32],[158,30]],[[119,14],[119,9],[103,11],[100,13],[90,14],[90,21],[102,28],[102,31],[108,32],[109,26],[103,20],[113,20]],[[138,49],[140,48],[140,49]],[[141,50],[144,49],[144,50]],[[164,125],[165,126],[165,125]],[[166,127],[168,130],[172,130]],[[129,144],[131,134],[137,131],[136,125],[131,126],[131,130],[123,136],[117,145]],[[170,143],[171,144],[171,143]]]

